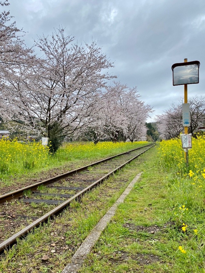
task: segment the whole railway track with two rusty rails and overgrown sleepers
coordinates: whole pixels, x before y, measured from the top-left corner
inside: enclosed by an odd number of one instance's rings
[[[0,196],[0,251],[153,146],[121,153]]]

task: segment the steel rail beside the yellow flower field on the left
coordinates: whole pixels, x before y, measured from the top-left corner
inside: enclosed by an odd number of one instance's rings
[[[13,199],[17,199],[19,196],[21,196],[21,195],[23,194],[24,190],[32,190],[32,191],[35,191],[39,185],[48,185],[48,184],[51,184],[51,183],[54,183],[54,182],[58,182],[58,181],[60,181],[61,179],[66,178],[66,177],[70,176],[71,174],[78,173],[78,172],[80,172],[80,171],[82,171],[82,170],[85,170],[85,169],[87,169],[88,167],[94,166],[94,165],[99,164],[99,163],[103,163],[103,162],[105,162],[105,161],[111,160],[112,158],[121,156],[121,155],[126,154],[126,153],[130,153],[130,152],[132,152],[132,151],[135,151],[135,150],[138,150],[138,149],[141,149],[141,148],[143,148],[143,147],[150,146],[150,145],[153,145],[153,143],[148,144],[148,145],[145,145],[145,146],[142,146],[142,147],[139,147],[139,148],[135,148],[135,149],[133,149],[133,150],[130,150],[130,151],[127,151],[127,152],[124,152],[124,153],[119,153],[119,154],[117,154],[117,155],[115,155],[115,156],[112,156],[112,157],[108,157],[108,158],[102,159],[102,160],[100,160],[100,161],[91,163],[91,164],[86,165],[86,166],[84,166],[84,167],[80,167],[80,168],[78,168],[78,169],[71,170],[71,171],[69,171],[69,172],[67,172],[67,173],[64,173],[64,174],[59,174],[59,175],[57,175],[57,176],[55,176],[55,177],[48,178],[48,179],[46,179],[46,180],[37,182],[37,183],[32,184],[32,185],[27,186],[27,187],[23,187],[23,188],[21,188],[21,189],[19,189],[19,190],[15,190],[15,191],[9,192],[9,193],[7,193],[7,194],[3,194],[3,195],[0,196],[0,204],[3,204],[3,203],[5,203],[5,202],[9,202],[9,201],[11,201],[11,200],[13,200]]]

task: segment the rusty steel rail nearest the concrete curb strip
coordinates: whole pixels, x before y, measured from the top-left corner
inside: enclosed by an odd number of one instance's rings
[[[27,227],[23,228],[22,230],[20,230],[16,234],[12,235],[10,238],[8,238],[5,241],[3,241],[0,244],[0,253],[2,251],[4,251],[5,249],[8,249],[10,246],[12,246],[12,244],[14,244],[16,242],[17,238],[25,236],[32,228],[34,228],[36,226],[39,226],[40,223],[45,222],[45,221],[48,220],[48,218],[51,218],[53,215],[58,214],[65,207],[67,207],[72,201],[77,200],[81,195],[83,195],[87,191],[91,190],[96,185],[100,184],[103,180],[105,180],[106,178],[110,177],[117,170],[120,170],[126,164],[130,163],[132,160],[134,160],[135,158],[139,157],[141,154],[145,153],[150,148],[154,147],[155,144],[150,144],[150,145],[146,145],[146,146],[151,146],[151,147],[147,148],[146,150],[144,150],[143,152],[139,153],[135,157],[132,157],[130,160],[128,160],[125,163],[121,164],[119,167],[115,168],[114,170],[112,170],[108,174],[104,175],[103,177],[101,177],[100,179],[98,179],[97,181],[95,181],[94,183],[92,183],[91,185],[87,186],[86,188],[84,188],[83,190],[81,190],[80,192],[78,192],[77,194],[75,194],[74,196],[72,196],[71,198],[69,198],[68,200],[66,200],[62,204],[60,204],[59,206],[55,207],[53,210],[47,212],[42,217],[38,218],[36,221],[32,222],[32,224],[29,224]],[[146,147],[146,146],[143,146],[143,147]],[[143,147],[141,147],[141,148],[143,148]]]

